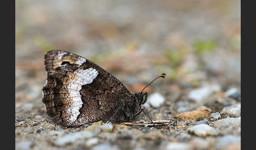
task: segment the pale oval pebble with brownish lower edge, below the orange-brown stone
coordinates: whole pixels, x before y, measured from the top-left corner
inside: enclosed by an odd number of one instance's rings
[[[207,125],[207,124],[199,124],[188,128],[188,132],[191,134],[195,134],[201,137],[218,135],[219,132],[215,130],[215,128]]]

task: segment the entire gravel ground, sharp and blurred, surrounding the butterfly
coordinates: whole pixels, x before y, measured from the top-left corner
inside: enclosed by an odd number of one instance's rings
[[[16,149],[241,149],[240,1],[16,1]],[[44,53],[97,63],[131,92],[162,72],[132,123],[46,114]],[[145,122],[147,121],[147,122]]]

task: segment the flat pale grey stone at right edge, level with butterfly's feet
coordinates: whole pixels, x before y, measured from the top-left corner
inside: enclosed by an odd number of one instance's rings
[[[216,128],[241,126],[241,117],[228,117],[225,119],[221,119],[221,120],[215,121],[213,126]]]

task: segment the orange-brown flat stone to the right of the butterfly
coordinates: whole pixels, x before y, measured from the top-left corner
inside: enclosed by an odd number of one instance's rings
[[[191,121],[194,119],[198,119],[199,117],[211,117],[211,109],[206,108],[205,106],[201,106],[200,108],[189,111],[189,112],[183,112],[180,114],[176,114],[174,118],[182,120],[182,121]]]

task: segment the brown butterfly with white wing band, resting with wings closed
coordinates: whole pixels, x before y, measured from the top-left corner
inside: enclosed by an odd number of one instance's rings
[[[147,100],[143,90],[131,93],[111,73],[92,61],[63,50],[45,53],[47,75],[42,89],[47,114],[58,124],[80,126],[97,121],[131,121]]]

